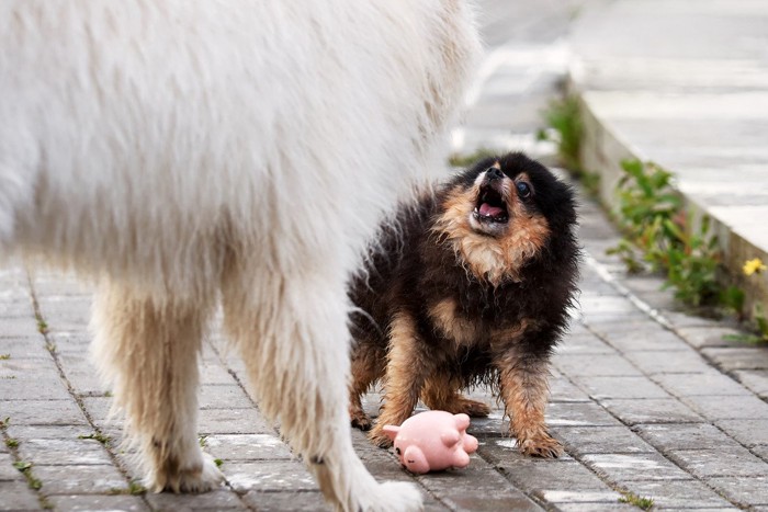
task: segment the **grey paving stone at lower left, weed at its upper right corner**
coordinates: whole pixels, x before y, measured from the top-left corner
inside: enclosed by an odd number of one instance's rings
[[[27,439],[19,444],[19,456],[35,465],[111,465],[112,459],[95,440]]]

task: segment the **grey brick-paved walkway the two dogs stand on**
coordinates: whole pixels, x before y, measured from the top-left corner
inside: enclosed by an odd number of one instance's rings
[[[515,116],[515,105],[526,112],[555,92],[571,14],[585,3],[484,2],[495,60],[471,98],[466,145],[546,151],[533,144],[538,120]],[[531,52],[535,58],[526,58]],[[508,89],[512,82],[518,89]],[[414,478],[355,432],[358,453],[380,479],[417,482],[429,511],[636,510],[619,502],[626,491],[659,510],[768,511],[768,350],[724,342],[729,328],[678,311],[659,280],[628,277],[605,255],[617,234],[594,203],[583,197],[581,205],[580,308],[554,359],[547,412],[567,454],[520,456],[500,436],[498,407],[473,421],[481,448],[465,470]],[[193,497],[132,485],[135,468],[116,447],[121,424],[106,420],[112,399],[86,355],[90,300],[66,275],[0,272],[0,510],[323,510],[216,333],[202,362],[200,430],[226,487]],[[369,396],[370,412],[376,403]],[[37,490],[14,467],[27,463]]]

